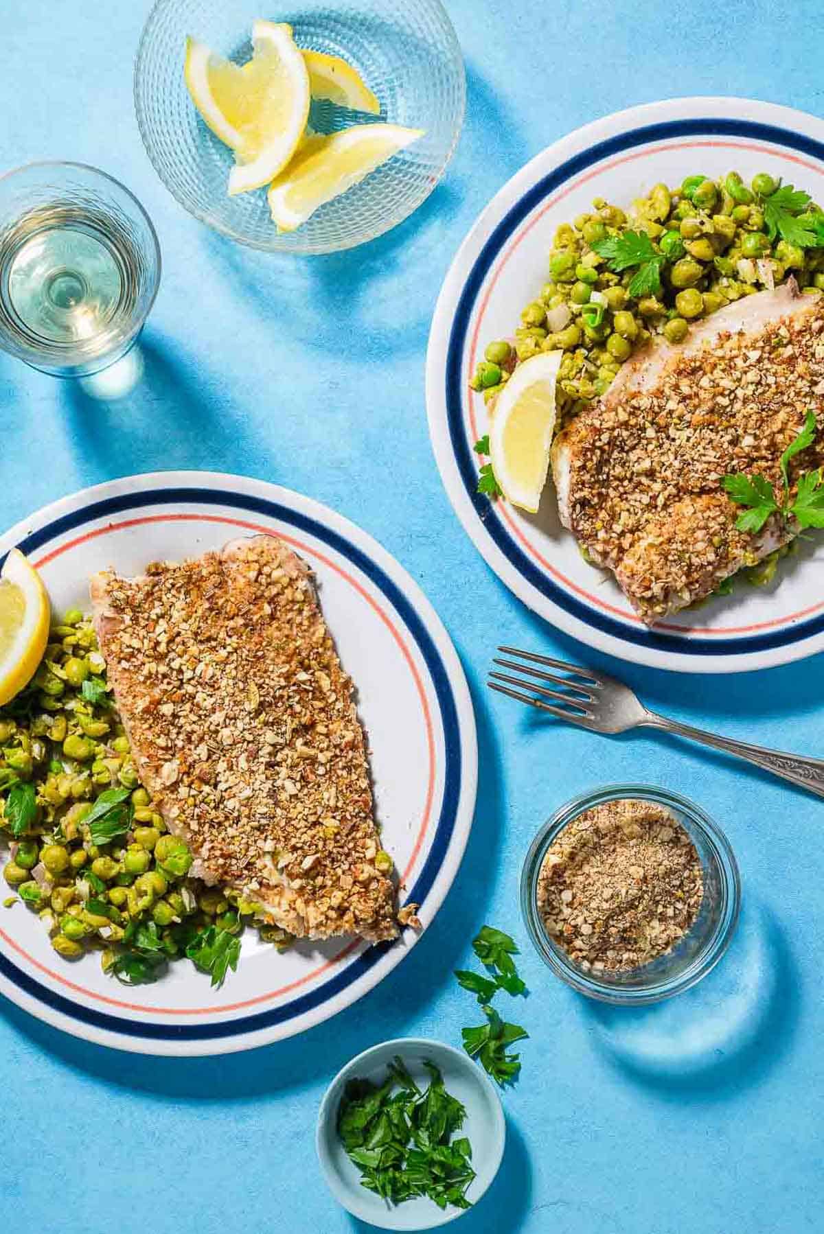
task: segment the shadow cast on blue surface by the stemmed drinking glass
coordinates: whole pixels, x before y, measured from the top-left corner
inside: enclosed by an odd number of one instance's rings
[[[119,399],[90,397],[79,381],[61,383],[70,448],[109,478],[140,471],[201,468],[219,471],[237,452],[250,474],[274,479],[258,437],[247,434],[242,408],[198,358],[148,332],[140,344],[143,371]],[[230,469],[233,470],[233,469]]]

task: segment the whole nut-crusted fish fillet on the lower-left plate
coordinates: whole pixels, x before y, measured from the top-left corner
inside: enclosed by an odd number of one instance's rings
[[[363,729],[305,563],[258,536],[98,574],[91,601],[141,780],[193,874],[299,937],[393,938]]]

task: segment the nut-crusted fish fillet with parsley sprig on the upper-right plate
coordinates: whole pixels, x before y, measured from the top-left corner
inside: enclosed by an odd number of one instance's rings
[[[792,539],[772,516],[757,534],[721,487],[728,473],[780,480],[808,410],[824,427],[824,297],[794,280],[644,348],[607,394],[558,433],[552,473],[565,527],[613,570],[647,623],[710,595]],[[823,462],[814,444],[791,479]]]

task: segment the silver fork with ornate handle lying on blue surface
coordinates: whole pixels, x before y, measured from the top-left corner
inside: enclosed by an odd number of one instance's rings
[[[519,675],[511,676],[490,669],[490,680],[487,682],[490,690],[498,690],[499,694],[509,695],[510,698],[518,698],[519,702],[537,707],[540,711],[547,711],[558,719],[568,719],[571,724],[589,728],[594,733],[624,733],[628,728],[660,728],[665,733],[689,737],[693,742],[710,745],[714,750],[738,754],[740,759],[824,797],[824,759],[782,754],[781,750],[750,745],[730,737],[717,737],[715,733],[705,733],[700,728],[693,728],[692,724],[667,719],[666,716],[649,711],[629,686],[605,673],[553,660],[551,655],[521,652],[516,647],[499,647],[498,650],[518,659],[495,658],[493,663]],[[536,664],[542,668],[534,668]],[[546,669],[557,671],[547,673]],[[513,690],[511,686],[519,689]],[[545,702],[545,698],[552,698],[553,702]]]

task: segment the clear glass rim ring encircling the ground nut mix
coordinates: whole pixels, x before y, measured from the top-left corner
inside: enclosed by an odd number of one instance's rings
[[[699,954],[673,976],[663,980],[658,977],[635,987],[615,986],[599,981],[574,965],[566,956],[563,949],[550,940],[537,912],[537,879],[544,856],[552,840],[567,823],[577,818],[584,810],[592,810],[593,806],[620,798],[654,801],[683,814],[688,824],[687,830],[694,829],[707,842],[721,884],[721,898],[714,928]],[[589,998],[616,1006],[644,1006],[689,990],[718,964],[729,948],[738,924],[741,907],[741,876],[726,835],[694,801],[657,785],[609,784],[591,789],[588,792],[567,801],[539,828],[521,869],[520,903],[530,940],[556,976]]]

